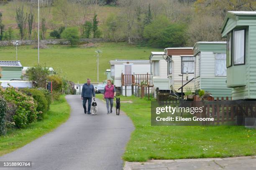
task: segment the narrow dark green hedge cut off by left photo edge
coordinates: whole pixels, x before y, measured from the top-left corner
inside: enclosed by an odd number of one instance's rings
[[[5,99],[2,96],[0,96],[0,135],[5,135],[6,133],[5,117],[6,117],[6,102],[5,102]]]

